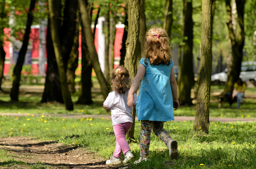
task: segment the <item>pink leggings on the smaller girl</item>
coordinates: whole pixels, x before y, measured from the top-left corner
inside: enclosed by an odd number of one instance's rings
[[[117,125],[113,125],[115,137],[116,137],[116,144],[115,144],[115,151],[113,156],[120,158],[122,151],[125,154],[126,152],[130,151],[130,147],[125,139],[125,135],[127,134],[128,130],[131,128],[131,122],[125,122]]]

